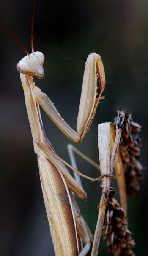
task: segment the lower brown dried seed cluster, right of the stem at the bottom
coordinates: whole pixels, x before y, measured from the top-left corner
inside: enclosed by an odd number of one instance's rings
[[[118,201],[113,198],[116,191],[110,188],[109,202],[104,217],[102,235],[109,246],[109,252],[116,256],[135,256],[132,247],[135,245],[131,232],[127,229],[126,212],[120,207]]]

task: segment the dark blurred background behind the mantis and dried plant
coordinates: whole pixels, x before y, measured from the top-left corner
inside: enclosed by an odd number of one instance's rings
[[[0,1],[0,18],[31,52],[32,0]],[[52,256],[53,246],[43,203],[36,155],[25,109],[17,62],[22,49],[0,28],[0,255]],[[105,68],[108,96],[79,150],[98,162],[98,123],[113,121],[120,107],[142,125],[143,187],[128,198],[129,230],[134,252],[147,253],[148,174],[148,1],[146,0],[37,0],[35,50],[45,55],[45,77],[36,84],[52,99],[68,124],[76,129],[85,60],[99,53]],[[58,155],[69,161],[68,138],[43,113],[47,137]],[[77,157],[80,171],[99,173]],[[94,234],[99,185],[82,180],[87,200],[79,201],[82,215]],[[115,183],[115,182],[114,182]],[[117,188],[116,184],[112,184]],[[118,195],[117,195],[118,198]],[[99,255],[107,256],[103,239]],[[88,254],[90,255],[90,254]],[[110,254],[111,255],[111,254]]]

